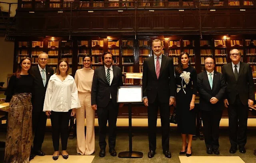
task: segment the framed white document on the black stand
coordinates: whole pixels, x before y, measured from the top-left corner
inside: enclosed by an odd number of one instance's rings
[[[118,87],[117,102],[142,102],[142,86]]]

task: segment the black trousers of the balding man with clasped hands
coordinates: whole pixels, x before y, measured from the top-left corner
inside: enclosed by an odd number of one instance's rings
[[[204,142],[206,148],[216,148],[219,145],[219,128],[220,119],[222,117],[222,110],[204,111],[201,110],[203,125],[204,125]]]

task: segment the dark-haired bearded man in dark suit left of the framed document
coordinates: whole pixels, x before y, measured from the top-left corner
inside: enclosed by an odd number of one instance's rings
[[[106,52],[102,55],[104,66],[94,71],[92,80],[92,109],[97,110],[99,123],[100,157],[106,155],[106,129],[109,127],[108,146],[109,153],[116,156],[116,119],[118,115],[117,90],[123,86],[122,71],[112,66],[113,54]],[[120,104],[122,107],[123,104]]]

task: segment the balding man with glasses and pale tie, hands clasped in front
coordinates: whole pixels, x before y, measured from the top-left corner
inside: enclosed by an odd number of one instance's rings
[[[219,155],[219,126],[223,111],[223,99],[226,82],[223,75],[214,71],[214,60],[205,59],[206,71],[197,75],[197,87],[200,94],[200,111],[204,125],[206,153]]]

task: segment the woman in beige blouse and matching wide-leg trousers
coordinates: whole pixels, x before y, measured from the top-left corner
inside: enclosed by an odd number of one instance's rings
[[[95,151],[94,116],[91,105],[91,88],[94,70],[91,67],[92,57],[83,57],[83,68],[76,71],[75,81],[81,107],[76,109],[77,153],[90,155]],[[84,137],[84,117],[86,115],[86,137]]]

